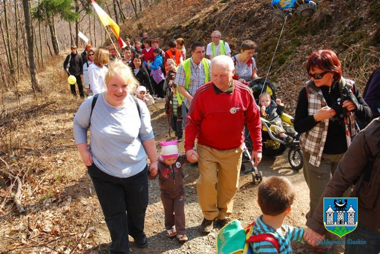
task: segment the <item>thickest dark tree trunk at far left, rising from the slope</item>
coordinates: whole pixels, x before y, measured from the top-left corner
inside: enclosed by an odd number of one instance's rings
[[[34,63],[34,43],[33,36],[31,33],[31,18],[30,18],[30,10],[28,0],[22,0],[22,5],[24,7],[24,17],[25,17],[25,30],[26,37],[28,39],[28,54],[29,54],[29,71],[30,77],[32,79],[32,89],[34,92],[39,92],[41,89],[38,87],[38,77],[36,71],[36,65]],[[59,54],[59,50],[58,50]]]

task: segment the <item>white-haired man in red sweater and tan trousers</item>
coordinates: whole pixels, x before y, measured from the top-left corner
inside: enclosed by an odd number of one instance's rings
[[[215,219],[222,226],[230,221],[233,198],[239,186],[245,123],[253,141],[255,165],[262,157],[260,112],[249,88],[232,80],[234,72],[230,57],[214,57],[212,81],[195,92],[186,119],[186,156],[190,162],[193,155],[199,161],[197,190],[204,215],[204,233],[211,232]],[[198,139],[197,151],[193,150],[195,138]]]

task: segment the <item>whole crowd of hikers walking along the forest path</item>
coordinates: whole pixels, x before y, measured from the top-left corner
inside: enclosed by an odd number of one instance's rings
[[[249,82],[259,78],[253,57],[257,44],[244,40],[239,54],[231,57],[228,42],[221,38],[219,31],[212,32],[211,42],[193,42],[190,54],[183,38],[171,39],[164,51],[146,32],[134,43],[126,38],[120,49],[114,44],[96,50],[86,45],[78,54],[77,47],[71,47],[63,67],[76,77],[80,97],[89,96],[76,112],[74,136],[110,231],[110,253],[129,253],[129,236],[138,247],[148,246],[144,233],[148,179],[157,177],[165,233],[188,240],[182,171],[186,163],[199,167],[197,193],[204,216],[200,230],[210,233],[215,220],[222,227],[232,223],[244,132],[249,131],[256,166],[262,159],[260,119],[266,118],[285,142],[300,140],[310,206],[307,227],[285,225],[294,187],[284,177],[265,178],[257,197],[262,215],[248,234],[269,237],[250,242],[248,249],[285,254],[291,253],[290,241],[301,241],[315,246],[319,254],[332,253],[331,242],[321,243],[324,237],[334,239],[323,226],[323,197],[351,195],[359,197],[359,222],[346,239],[364,239],[366,244],[346,244],[345,253],[378,254],[380,69],[362,96],[355,82],[342,76],[333,51],[313,52],[306,62],[309,80],[299,93],[292,127],[278,117],[284,110],[280,99],[272,101],[266,91],[254,98],[249,89]],[[70,86],[76,95],[75,84]],[[165,100],[162,107],[176,138],[163,140],[158,155],[148,106],[160,100]],[[183,138],[181,155],[178,144]],[[218,249],[219,253],[239,251],[227,243],[223,248],[229,251]]]

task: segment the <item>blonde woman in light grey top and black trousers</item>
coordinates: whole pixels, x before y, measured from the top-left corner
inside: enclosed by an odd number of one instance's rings
[[[157,174],[157,151],[149,110],[130,94],[138,85],[131,69],[115,60],[105,83],[107,90],[97,95],[95,107],[95,96],[89,97],[76,112],[74,137],[110,231],[110,253],[129,253],[128,235],[137,246],[148,245],[148,172]]]

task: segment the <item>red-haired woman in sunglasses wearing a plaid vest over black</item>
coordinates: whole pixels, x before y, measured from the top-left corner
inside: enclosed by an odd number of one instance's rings
[[[309,221],[349,140],[358,133],[356,119],[367,121],[372,113],[354,81],[342,77],[342,65],[334,52],[313,52],[307,60],[306,71],[310,80],[299,94],[294,128],[301,133],[304,178],[310,189],[310,209],[306,214]],[[353,93],[357,106],[350,100],[341,103],[344,87]],[[347,114],[343,116],[344,111]],[[346,136],[346,129],[351,137]],[[348,197],[349,193],[347,190],[343,197]],[[332,239],[332,235],[326,238]],[[331,245],[321,247],[318,253],[332,253]]]

